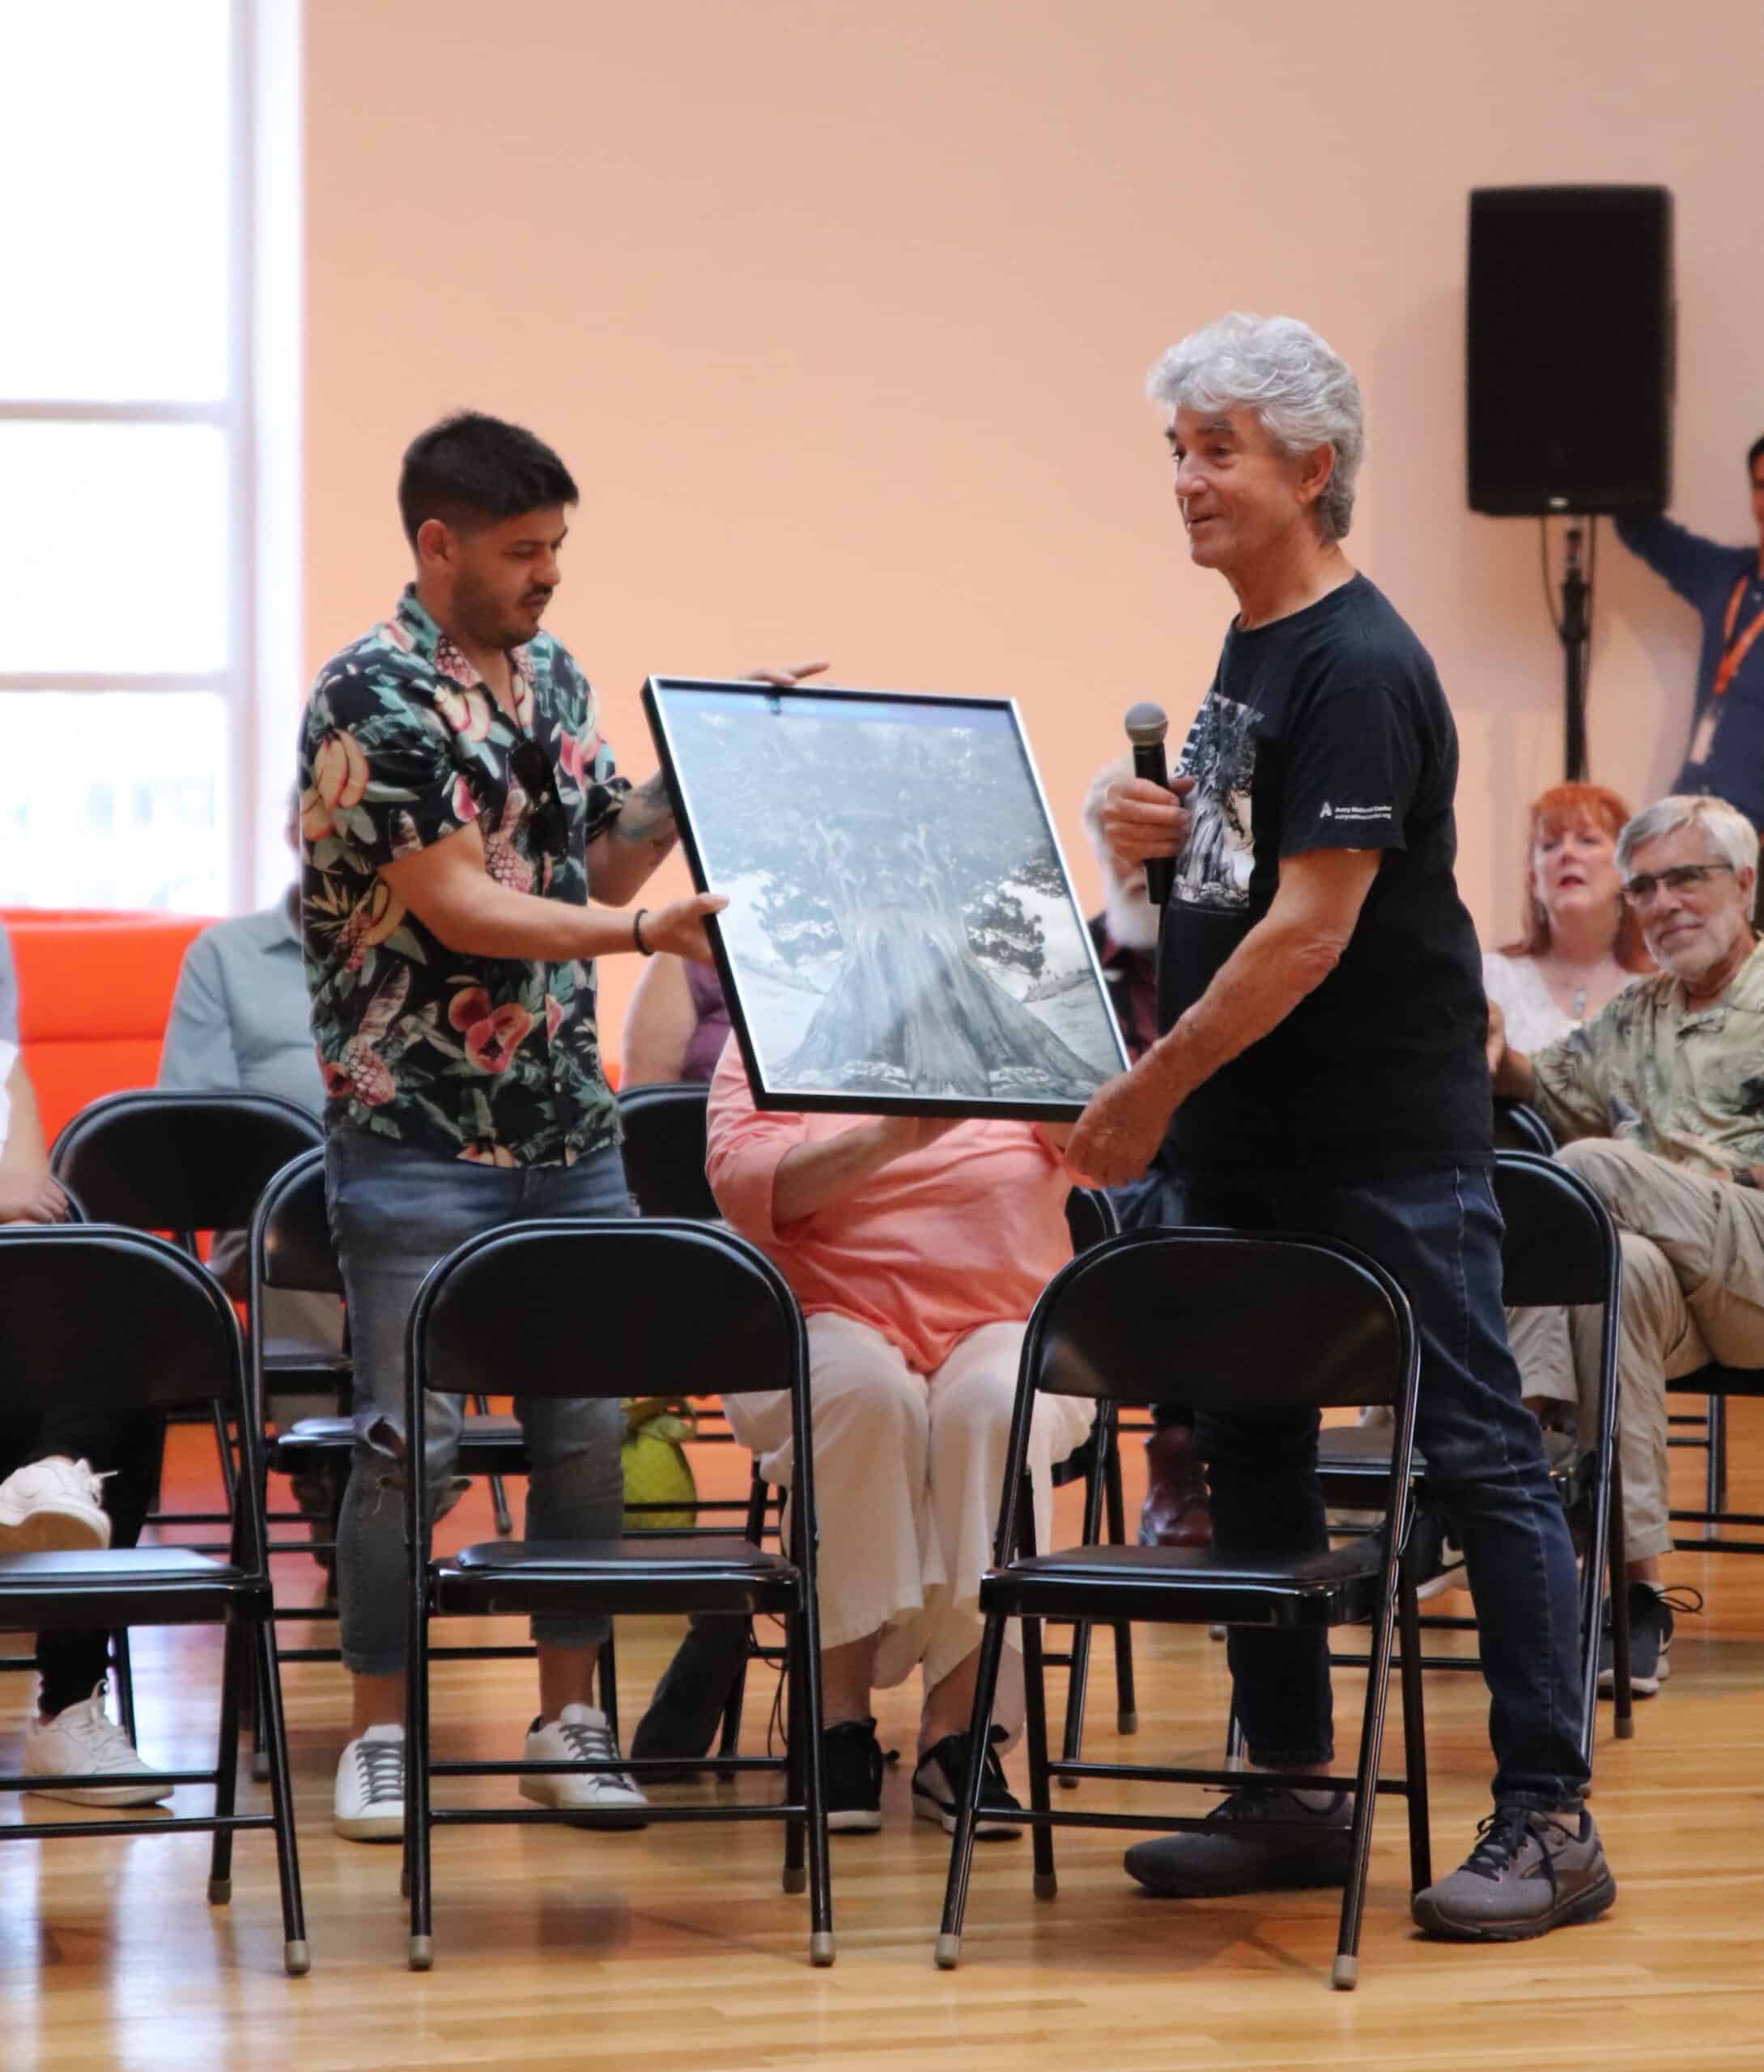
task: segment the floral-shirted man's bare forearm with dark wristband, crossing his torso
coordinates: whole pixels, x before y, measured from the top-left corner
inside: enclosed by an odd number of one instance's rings
[[[429,934],[464,957],[570,963],[636,949],[630,914],[603,914],[497,885],[485,868],[477,823],[454,829],[415,856],[381,864],[379,874]],[[705,916],[725,905],[721,893],[696,893],[653,908],[643,916],[643,941],[649,949],[709,963]]]

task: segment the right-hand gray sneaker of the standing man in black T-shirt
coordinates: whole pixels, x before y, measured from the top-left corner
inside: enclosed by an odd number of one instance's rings
[[[1410,1902],[1416,1927],[1445,1941],[1526,1941],[1592,1921],[1617,1898],[1617,1879],[1586,1807],[1538,1813],[1497,1807],[1451,1877]]]

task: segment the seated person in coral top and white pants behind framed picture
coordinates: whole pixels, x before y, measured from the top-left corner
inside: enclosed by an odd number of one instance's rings
[[[1059,1144],[1034,1123],[763,1115],[728,1044],[707,1171],[808,1320],[829,1823],[881,1828],[871,1693],[922,1668],[912,1807],[954,1834],[1024,1324],[1072,1256]],[[761,1473],[790,1481],[788,1394],[725,1409]],[[1053,1463],[1090,1417],[1068,1397],[1036,1409],[1041,1546]],[[983,1807],[1016,1803],[997,1755],[1022,1720],[1014,1649],[997,1718]]]

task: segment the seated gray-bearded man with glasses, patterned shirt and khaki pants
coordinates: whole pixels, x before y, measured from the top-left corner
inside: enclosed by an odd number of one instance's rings
[[[1490,1009],[1495,1092],[1542,1111],[1623,1239],[1617,1341],[1623,1550],[1631,1674],[1669,1674],[1667,1382],[1718,1359],[1764,1368],[1764,951],[1752,928],[1758,835],[1716,798],[1665,798],[1617,837],[1623,897],[1652,978],[1534,1057],[1507,1048]],[[1577,1409],[1592,1438],[1598,1320],[1513,1310],[1526,1397]],[[1600,1682],[1611,1687],[1609,1637]]]

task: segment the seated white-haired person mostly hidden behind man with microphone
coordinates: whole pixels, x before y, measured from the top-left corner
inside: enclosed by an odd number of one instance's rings
[[[1090,941],[1109,986],[1109,1005],[1121,1026],[1128,1059],[1138,1063],[1157,1040],[1157,930],[1159,910],[1146,893],[1144,868],[1128,868],[1103,839],[1103,802],[1109,785],[1134,775],[1134,758],[1105,762],[1084,794],[1084,833],[1103,866],[1103,912],[1090,920]],[[1161,1169],[1146,1179],[1111,1187],[1115,1214],[1132,1229],[1142,1212],[1167,1216],[1171,1189]],[[1153,1206],[1155,1204],[1155,1206]],[[1146,1500],[1140,1508],[1140,1546],[1204,1548],[1213,1537],[1206,1508],[1206,1469],[1194,1444],[1194,1411],[1186,1403],[1155,1403],[1146,1440]]]

